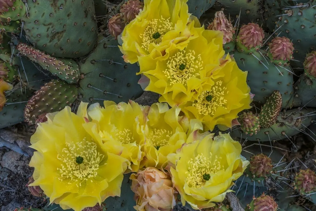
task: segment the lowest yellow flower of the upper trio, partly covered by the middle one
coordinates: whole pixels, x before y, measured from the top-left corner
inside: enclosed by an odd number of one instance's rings
[[[246,77],[247,71],[241,71],[227,55],[221,59],[220,68],[203,84],[199,95],[179,107],[189,119],[202,121],[205,129],[213,130],[217,124],[231,128],[237,114],[251,108]]]

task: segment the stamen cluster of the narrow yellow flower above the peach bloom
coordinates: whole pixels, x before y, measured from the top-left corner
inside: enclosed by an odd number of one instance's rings
[[[172,132],[163,129],[154,129],[150,131],[146,139],[158,150],[161,146],[167,146]]]

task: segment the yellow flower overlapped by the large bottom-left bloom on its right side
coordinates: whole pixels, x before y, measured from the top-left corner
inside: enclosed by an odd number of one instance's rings
[[[99,103],[88,108],[88,116],[96,125],[91,128],[91,136],[102,142],[110,152],[131,162],[125,173],[137,172],[144,157],[148,109],[149,106],[140,106],[134,101],[119,104],[104,101],[104,108]]]

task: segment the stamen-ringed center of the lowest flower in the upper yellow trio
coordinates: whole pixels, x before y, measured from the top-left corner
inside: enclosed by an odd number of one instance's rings
[[[217,81],[210,91],[203,91],[192,106],[197,108],[199,114],[213,116],[218,107],[223,106],[227,109],[227,100],[224,99],[227,93],[226,87],[222,87],[222,81]]]

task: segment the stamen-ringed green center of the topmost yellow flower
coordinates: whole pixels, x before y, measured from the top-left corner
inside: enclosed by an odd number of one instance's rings
[[[161,43],[163,36],[168,31],[174,29],[174,26],[169,19],[170,18],[164,19],[161,16],[161,19],[153,19],[149,21],[144,33],[139,35],[140,38],[142,38],[142,48],[149,51],[150,43]]]

